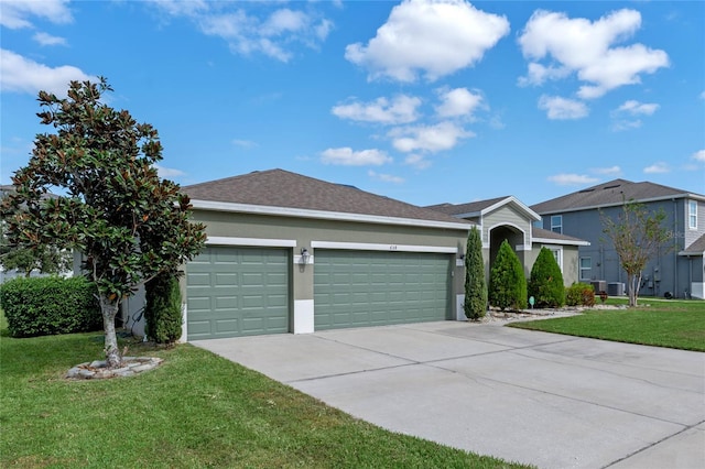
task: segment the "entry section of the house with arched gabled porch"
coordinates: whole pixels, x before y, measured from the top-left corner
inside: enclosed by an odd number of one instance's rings
[[[466,219],[479,227],[485,274],[488,277],[499,247],[507,240],[521,261],[527,277],[531,274],[541,248],[547,248],[561,268],[564,284],[570,286],[577,282],[578,248],[589,243],[534,227],[533,223],[541,220],[541,217],[513,196],[459,205],[440,204],[426,208]]]

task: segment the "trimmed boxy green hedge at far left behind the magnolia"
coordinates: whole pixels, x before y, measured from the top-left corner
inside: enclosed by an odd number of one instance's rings
[[[0,285],[0,305],[12,337],[99,330],[96,285],[85,277],[19,277]]]

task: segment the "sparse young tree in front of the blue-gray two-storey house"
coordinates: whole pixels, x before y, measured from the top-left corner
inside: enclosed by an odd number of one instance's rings
[[[637,306],[642,271],[649,260],[661,249],[666,252],[674,248],[668,243],[671,237],[663,227],[665,217],[663,209],[649,210],[633,200],[625,201],[616,218],[600,212],[603,232],[615,246],[620,265],[627,272],[629,306]]]

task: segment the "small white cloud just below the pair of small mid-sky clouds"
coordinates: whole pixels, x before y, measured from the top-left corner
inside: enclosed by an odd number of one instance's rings
[[[392,129],[388,135],[392,145],[400,152],[426,151],[431,153],[451,150],[460,139],[475,137],[453,122],[440,122],[435,126],[401,127]]]

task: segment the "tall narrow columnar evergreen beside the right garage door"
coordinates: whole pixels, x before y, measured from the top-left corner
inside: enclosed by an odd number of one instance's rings
[[[468,319],[485,317],[487,312],[482,240],[477,227],[470,229],[465,249],[465,303],[463,307]]]

